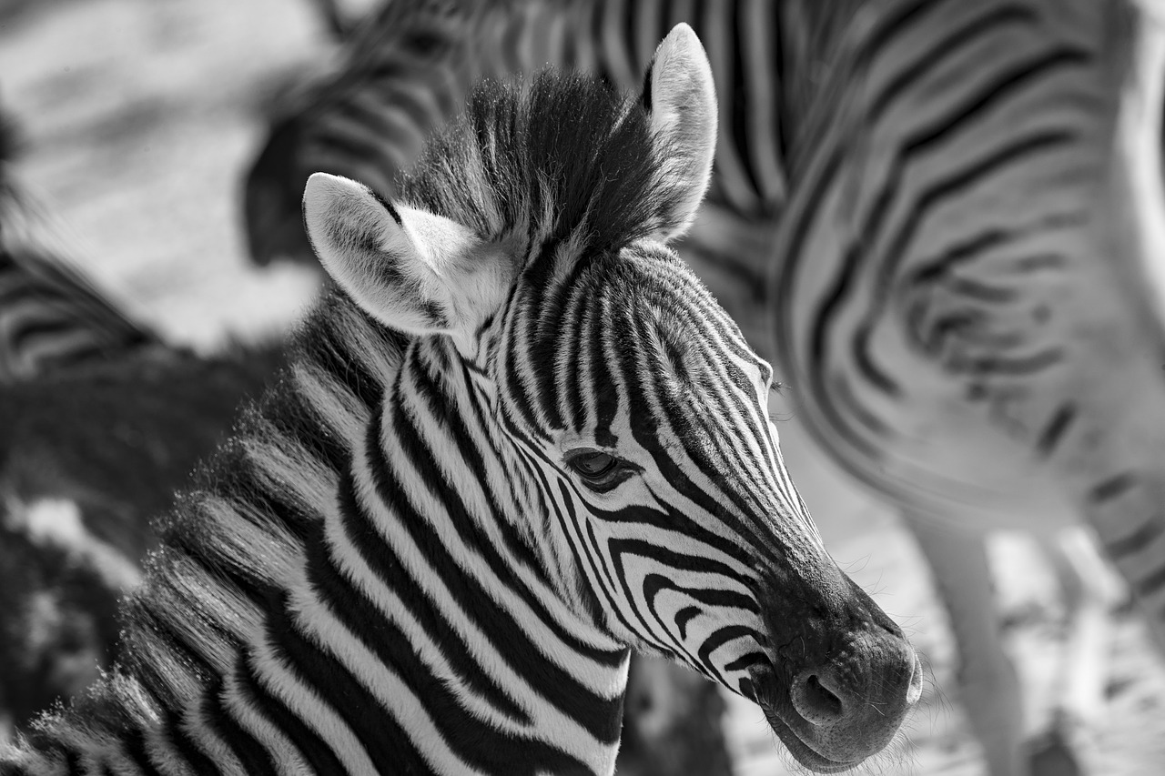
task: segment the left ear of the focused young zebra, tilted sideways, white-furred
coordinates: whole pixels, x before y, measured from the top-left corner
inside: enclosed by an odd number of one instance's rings
[[[327,274],[366,312],[414,334],[473,332],[504,294],[490,254],[460,224],[394,206],[325,172],[303,195],[308,237]]]

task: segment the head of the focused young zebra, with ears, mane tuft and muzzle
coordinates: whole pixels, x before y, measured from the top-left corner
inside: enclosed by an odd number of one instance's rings
[[[715,115],[679,26],[637,99],[576,76],[483,85],[398,200],[317,174],[305,223],[344,292],[414,336],[405,365],[480,422],[456,487],[510,529],[482,535],[523,548],[514,563],[535,559],[591,643],[754,699],[832,773],[890,741],[920,671],[821,545],[768,417],[770,367],[666,246],[704,196]],[[447,436],[435,401],[417,414]]]

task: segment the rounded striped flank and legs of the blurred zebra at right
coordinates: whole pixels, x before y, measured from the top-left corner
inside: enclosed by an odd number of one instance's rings
[[[1024,774],[980,532],[1060,542],[1066,651],[1095,652],[1086,522],[1165,649],[1160,26],[1125,2],[877,8],[803,117],[769,254],[775,358],[821,447],[902,509],[991,773]],[[1100,718],[1104,684],[1064,665],[1053,747]]]

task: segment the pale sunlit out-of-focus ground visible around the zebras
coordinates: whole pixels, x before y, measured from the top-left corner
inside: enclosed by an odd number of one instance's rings
[[[245,261],[239,196],[262,142],[264,100],[329,51],[309,0],[0,0],[0,101],[28,140],[23,178],[59,213],[65,241],[103,288],[200,348],[281,331],[311,297],[309,273]],[[910,536],[814,458],[796,417],[782,433],[834,557],[906,628],[933,671],[909,743],[869,771],[980,774],[953,690],[945,615]],[[1038,729],[1061,643],[1052,577],[1022,538],[1001,537],[995,550]],[[1162,776],[1165,670],[1135,618],[1116,613],[1113,623],[1090,764],[1103,776]],[[747,701],[730,707],[740,774],[789,773],[760,713]]]

